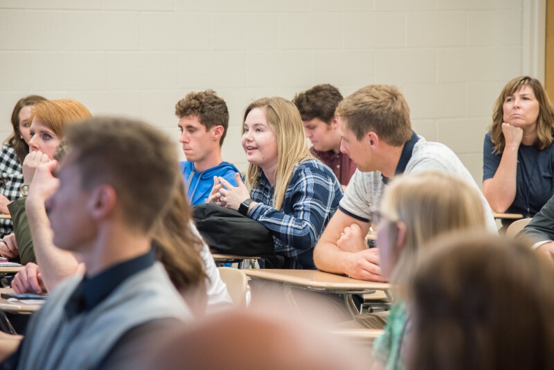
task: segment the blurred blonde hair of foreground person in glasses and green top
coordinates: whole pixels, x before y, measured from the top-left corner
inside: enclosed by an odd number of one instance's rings
[[[458,177],[427,172],[395,177],[385,191],[382,211],[391,221],[406,224],[406,243],[391,282],[406,285],[418,250],[447,231],[485,229],[479,191]]]

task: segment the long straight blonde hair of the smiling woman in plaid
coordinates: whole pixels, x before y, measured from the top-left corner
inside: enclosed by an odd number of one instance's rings
[[[267,123],[277,138],[278,164],[273,202],[276,209],[281,209],[294,167],[315,157],[307,147],[300,112],[290,100],[274,97],[261,98],[250,103],[244,110],[242,134],[244,134],[244,122],[254,108],[264,110]],[[261,170],[260,166],[249,164],[246,176],[249,188],[259,184]]]

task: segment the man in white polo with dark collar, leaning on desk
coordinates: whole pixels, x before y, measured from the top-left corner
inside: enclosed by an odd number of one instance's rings
[[[451,173],[479,189],[452,150],[426,141],[411,130],[410,111],[394,86],[368,85],[337,107],[341,150],[357,164],[339,211],[334,214],[314,251],[320,270],[355,279],[384,281],[377,250],[368,249],[364,236],[372,222],[388,179],[400,173],[435,170]],[[492,212],[481,195],[485,218],[496,231]]]

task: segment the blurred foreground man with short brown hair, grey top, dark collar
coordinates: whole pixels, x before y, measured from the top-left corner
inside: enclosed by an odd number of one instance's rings
[[[87,271],[51,292],[6,361],[17,369],[129,367],[150,335],[191,317],[150,238],[170,203],[177,155],[158,130],[125,118],[91,118],[65,134],[69,151],[57,169],[56,161],[39,167],[45,178],[27,206],[46,202],[54,244],[80,254]]]

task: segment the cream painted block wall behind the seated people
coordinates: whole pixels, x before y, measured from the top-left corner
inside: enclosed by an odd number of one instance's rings
[[[387,83],[404,92],[415,131],[452,148],[480,184],[494,100],[525,73],[525,1],[0,0],[0,137],[33,93],[143,118],[177,147],[175,103],[211,88],[231,114],[224,159],[244,170],[251,100]]]

